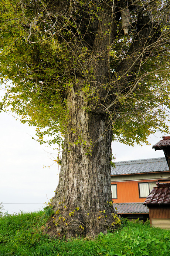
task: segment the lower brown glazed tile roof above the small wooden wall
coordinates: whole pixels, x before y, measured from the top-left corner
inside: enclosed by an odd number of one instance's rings
[[[149,193],[149,196],[146,197],[144,204],[166,204],[170,203],[170,184],[157,183],[157,187],[154,187]]]

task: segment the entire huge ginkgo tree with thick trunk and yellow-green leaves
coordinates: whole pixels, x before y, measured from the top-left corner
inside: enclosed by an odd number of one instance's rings
[[[168,131],[170,1],[1,0],[0,13],[1,110],[62,146],[47,232],[114,230],[111,142]]]

